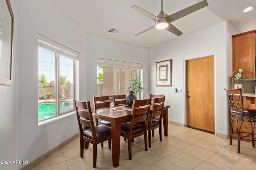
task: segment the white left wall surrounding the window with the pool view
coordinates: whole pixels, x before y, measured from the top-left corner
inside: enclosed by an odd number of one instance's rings
[[[9,102],[10,106],[16,109],[18,150],[16,159],[31,162],[78,133],[75,113],[38,125],[38,33],[80,52],[79,60],[83,63],[80,67],[81,72],[87,70],[85,64],[87,35],[50,0],[19,0],[16,16],[18,16],[16,35],[18,56],[14,59],[17,66],[14,81],[18,90],[14,94],[16,103],[11,104],[12,100]],[[80,92],[83,92],[84,96],[87,95],[85,82],[86,76],[83,75],[80,78],[82,84]],[[10,94],[13,95],[13,92]],[[6,97],[2,98],[1,95],[0,100],[6,100]],[[24,165],[19,165],[18,168],[22,166]]]

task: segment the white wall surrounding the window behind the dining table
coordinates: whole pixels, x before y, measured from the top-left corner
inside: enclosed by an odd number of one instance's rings
[[[97,96],[97,58],[113,59],[141,63],[143,69],[142,87],[143,98],[148,98],[149,94],[149,49],[121,41],[116,41],[88,33],[88,99],[91,105],[92,97]],[[84,98],[82,98],[84,99]]]

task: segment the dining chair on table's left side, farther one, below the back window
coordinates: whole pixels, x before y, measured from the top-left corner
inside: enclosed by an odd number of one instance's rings
[[[94,109],[98,109],[101,107],[110,107],[110,102],[109,102],[109,96],[98,96],[98,97],[93,97],[93,106]],[[102,120],[98,122],[98,119],[96,119],[96,125],[106,125],[110,127],[110,122]]]

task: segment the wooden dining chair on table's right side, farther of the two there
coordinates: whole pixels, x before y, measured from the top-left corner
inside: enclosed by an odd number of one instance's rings
[[[164,97],[153,98],[152,107],[150,109],[150,117],[148,121],[148,147],[151,148],[151,131],[156,128],[159,128],[159,138],[162,141],[162,116],[164,109]],[[160,117],[159,120],[153,119],[153,117]],[[138,123],[139,125],[144,126],[145,121]]]

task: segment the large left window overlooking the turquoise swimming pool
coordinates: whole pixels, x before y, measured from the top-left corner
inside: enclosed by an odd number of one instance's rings
[[[74,60],[78,53],[38,38],[38,121],[74,110]]]

